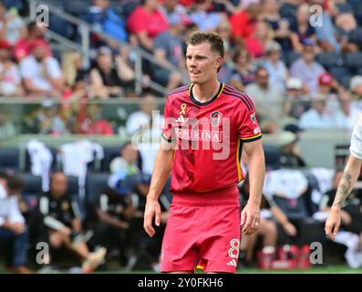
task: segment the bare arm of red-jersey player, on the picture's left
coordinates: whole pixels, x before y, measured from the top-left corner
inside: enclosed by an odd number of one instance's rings
[[[160,225],[160,203],[158,202],[160,193],[171,173],[174,149],[167,141],[161,141],[160,149],[157,152],[153,167],[152,179],[150,181],[150,192],[147,194],[146,209],[144,214],[143,228],[152,237],[155,229],[152,226],[155,217],[156,226]]]

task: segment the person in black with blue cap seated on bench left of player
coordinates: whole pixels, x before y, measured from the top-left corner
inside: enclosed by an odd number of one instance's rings
[[[132,186],[137,183],[132,175],[115,173],[109,177],[109,187],[94,202],[96,214],[93,245],[102,245],[119,252],[119,266],[127,266],[131,247],[131,219],[136,214],[132,204]]]

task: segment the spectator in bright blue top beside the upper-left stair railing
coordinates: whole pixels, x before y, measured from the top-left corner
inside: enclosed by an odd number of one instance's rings
[[[109,7],[109,0],[93,0],[88,12],[81,18],[119,42],[128,40],[126,25],[123,19]],[[91,35],[90,37],[92,46],[102,44],[102,39],[99,36]]]

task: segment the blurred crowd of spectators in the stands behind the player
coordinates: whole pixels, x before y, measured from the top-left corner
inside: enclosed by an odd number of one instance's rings
[[[74,117],[87,116],[82,105],[89,100],[160,97],[150,81],[169,90],[185,84],[184,39],[195,29],[222,36],[226,55],[219,78],[253,98],[265,133],[289,121],[304,129],[350,129],[361,111],[362,16],[355,0],[85,0],[73,10],[60,1],[65,11],[119,41],[91,33],[95,55],[88,66],[78,52],[59,50],[47,38],[53,30],[78,42],[77,27],[57,16],[50,26],[28,23],[18,3],[0,5],[1,96],[57,100],[48,116],[57,120],[59,133],[82,131]],[[311,5],[319,5],[320,13]],[[155,61],[142,59],[141,96],[135,93],[134,47]],[[35,131],[29,128],[20,131]]]

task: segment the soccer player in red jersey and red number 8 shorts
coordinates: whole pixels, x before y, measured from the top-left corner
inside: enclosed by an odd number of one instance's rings
[[[240,232],[252,235],[260,223],[264,151],[253,101],[222,84],[222,38],[196,31],[187,41],[191,85],[166,100],[160,149],[144,214],[144,229],[160,225],[160,192],[171,173],[173,199],[163,236],[160,271],[234,273]],[[237,183],[243,180],[241,150],[248,154],[250,198],[240,214]]]

